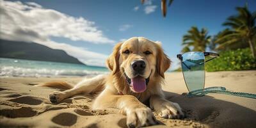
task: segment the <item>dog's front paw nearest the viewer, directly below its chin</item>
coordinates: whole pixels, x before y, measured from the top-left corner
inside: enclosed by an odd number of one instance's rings
[[[140,107],[127,110],[128,127],[143,127],[156,124],[156,117],[153,115],[150,108]]]

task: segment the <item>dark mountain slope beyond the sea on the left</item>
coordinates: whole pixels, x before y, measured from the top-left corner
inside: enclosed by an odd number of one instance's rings
[[[16,58],[24,60],[54,61],[62,63],[83,64],[67,52],[51,49],[34,42],[17,42],[0,39],[0,58]]]

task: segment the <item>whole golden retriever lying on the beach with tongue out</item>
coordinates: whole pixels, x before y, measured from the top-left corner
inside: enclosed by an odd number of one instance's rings
[[[170,63],[161,44],[143,37],[132,37],[115,45],[106,61],[110,74],[84,79],[76,86],[65,82],[42,86],[68,88],[51,93],[49,97],[53,103],[80,93],[99,93],[93,109],[120,109],[127,116],[128,127],[156,125],[152,110],[163,118],[184,117],[179,104],[164,99],[161,88],[164,72]]]

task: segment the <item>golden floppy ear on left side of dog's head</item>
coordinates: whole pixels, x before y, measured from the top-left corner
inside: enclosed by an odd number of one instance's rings
[[[115,45],[113,52],[111,53],[111,55],[108,57],[108,60],[106,61],[106,65],[110,70],[112,70],[112,74],[115,74],[119,70],[118,60],[120,56],[119,51],[120,51],[121,45],[122,43],[118,43]]]

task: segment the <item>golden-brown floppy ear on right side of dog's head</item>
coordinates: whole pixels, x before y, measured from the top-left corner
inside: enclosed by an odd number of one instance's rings
[[[171,60],[168,58],[161,47],[161,44],[157,43],[157,73],[164,78],[164,72],[168,70],[171,65]]]

